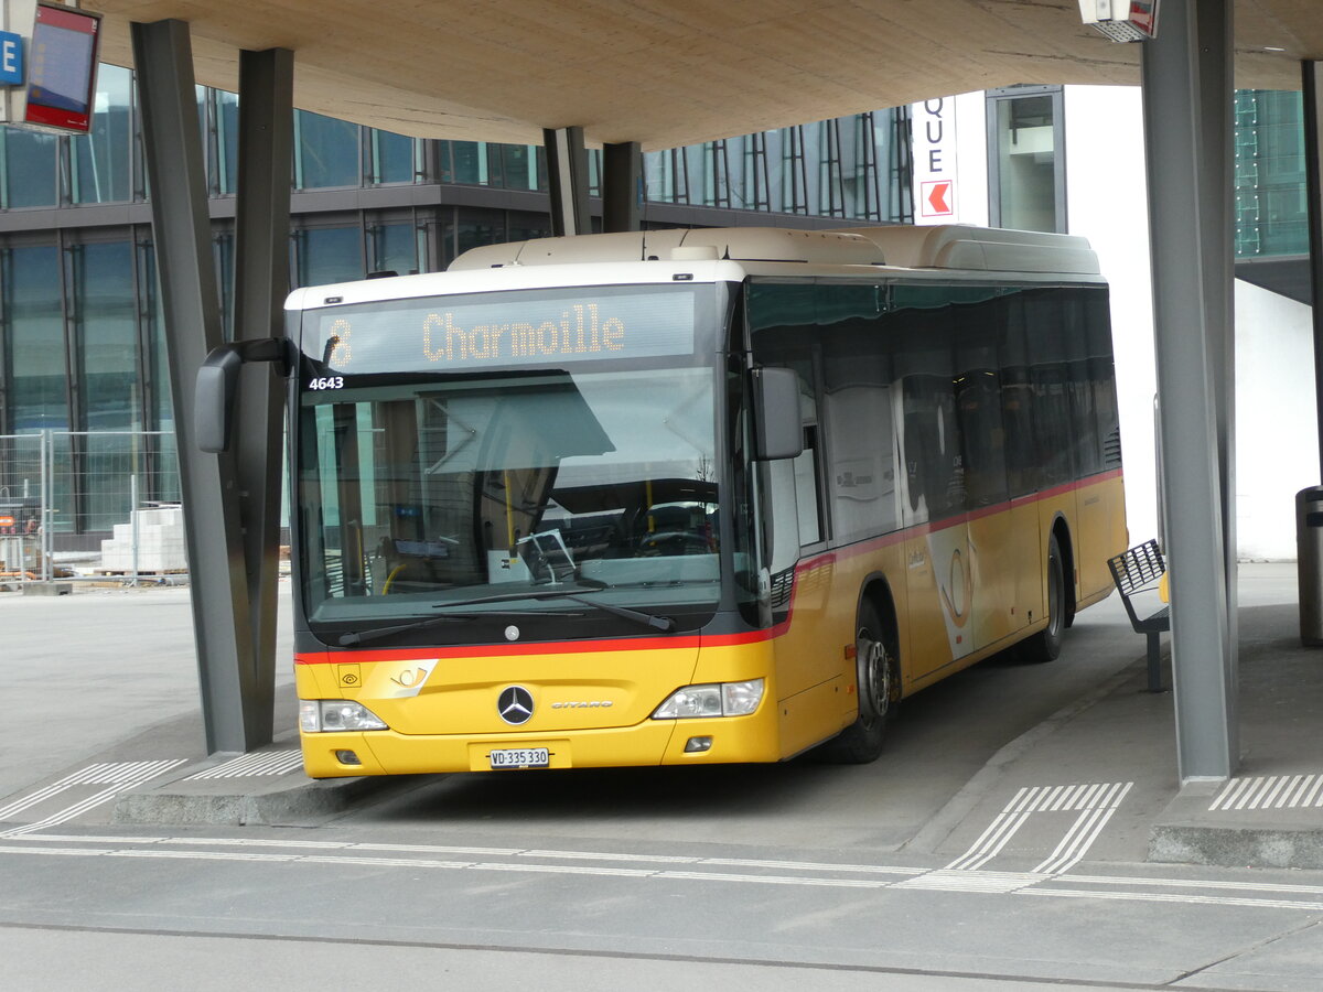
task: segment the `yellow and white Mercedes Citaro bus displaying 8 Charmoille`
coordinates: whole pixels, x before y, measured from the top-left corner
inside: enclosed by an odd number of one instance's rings
[[[312,778],[869,762],[1126,546],[1081,238],[548,238],[287,317]]]

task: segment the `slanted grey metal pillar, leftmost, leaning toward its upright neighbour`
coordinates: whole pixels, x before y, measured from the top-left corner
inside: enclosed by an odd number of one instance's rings
[[[198,450],[192,422],[197,369],[221,344],[221,308],[188,24],[135,22],[132,42],[175,402],[206,750],[243,751],[249,738],[241,672],[253,668],[253,639],[234,458]]]

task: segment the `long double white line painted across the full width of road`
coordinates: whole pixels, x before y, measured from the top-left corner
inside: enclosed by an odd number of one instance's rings
[[[1207,878],[1134,876],[1060,876],[1035,872],[929,870],[898,865],[848,865],[814,861],[705,858],[672,854],[626,854],[594,850],[501,849],[492,857],[484,848],[437,848],[410,844],[357,844],[234,839],[234,837],[54,837],[17,836],[0,844],[0,854],[28,857],[134,857],[179,861],[229,861],[271,865],[363,865],[370,868],[434,869],[455,872],[508,872],[527,874],[601,876],[672,882],[726,882],[790,885],[830,889],[926,890],[1039,895],[1069,899],[1170,902],[1191,906],[1289,909],[1323,913],[1323,886],[1278,882],[1216,881]],[[54,843],[53,843],[54,841]],[[205,850],[202,845],[222,848]],[[237,849],[235,849],[237,848]],[[247,849],[245,849],[247,848]],[[270,850],[269,848],[283,848]],[[382,854],[370,854],[381,850]],[[438,858],[439,850],[470,850],[478,858]],[[390,852],[390,853],[385,853]],[[587,864],[573,864],[576,860]],[[610,862],[628,862],[610,864]],[[553,864],[548,864],[553,862]],[[671,866],[687,862],[685,868]],[[750,870],[704,870],[746,866]],[[775,874],[757,869],[774,869]],[[798,874],[796,874],[798,873]],[[856,877],[849,877],[855,874]],[[882,876],[905,876],[900,880]],[[1089,888],[1081,888],[1089,886]],[[1164,891],[1158,891],[1159,889]]]

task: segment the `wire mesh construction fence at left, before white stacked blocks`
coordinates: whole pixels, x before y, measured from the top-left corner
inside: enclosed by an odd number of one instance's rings
[[[0,582],[185,571],[175,435],[0,435]]]

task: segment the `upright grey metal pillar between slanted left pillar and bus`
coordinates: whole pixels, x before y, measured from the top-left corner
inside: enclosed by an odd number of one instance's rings
[[[235,340],[284,335],[290,292],[290,163],[294,53],[239,52],[238,196],[234,221]],[[284,380],[275,362],[241,372],[235,421],[239,522],[247,577],[250,664],[239,671],[245,750],[271,742]]]

